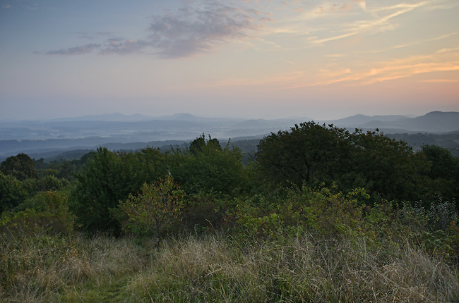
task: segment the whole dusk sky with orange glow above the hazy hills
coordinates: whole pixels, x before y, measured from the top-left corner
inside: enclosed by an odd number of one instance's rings
[[[459,111],[458,0],[0,0],[0,120]]]

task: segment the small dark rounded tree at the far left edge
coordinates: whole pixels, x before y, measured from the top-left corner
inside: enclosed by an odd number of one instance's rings
[[[28,178],[38,178],[38,171],[35,169],[35,161],[27,154],[10,156],[0,164],[0,171],[5,175],[13,175],[20,181]]]

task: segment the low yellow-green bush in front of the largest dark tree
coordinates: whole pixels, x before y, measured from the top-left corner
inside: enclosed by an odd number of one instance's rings
[[[363,189],[342,194],[306,186],[292,187],[285,199],[254,196],[239,201],[234,209],[236,231],[244,235],[248,230],[262,237],[297,228],[329,236],[359,233],[368,198]]]

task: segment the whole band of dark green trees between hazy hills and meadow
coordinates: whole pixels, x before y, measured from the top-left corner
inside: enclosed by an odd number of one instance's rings
[[[243,159],[239,148],[222,147],[210,135],[166,152],[100,147],[79,160],[52,163],[18,154],[0,165],[0,211],[8,220],[64,211],[67,225],[87,233],[160,238],[179,228],[249,224],[263,230],[280,214],[285,223],[295,214],[286,210],[292,190],[302,189],[326,190],[330,197],[359,192],[359,207],[429,210],[447,202],[448,218],[459,209],[458,158],[429,144],[414,152],[378,130],[301,123],[264,137],[249,162]],[[159,215],[163,223],[155,225]]]

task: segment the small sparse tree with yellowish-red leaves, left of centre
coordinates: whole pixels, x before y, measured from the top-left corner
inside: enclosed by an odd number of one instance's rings
[[[137,234],[153,233],[160,242],[165,230],[179,222],[184,192],[170,175],[165,180],[144,183],[137,195],[119,203],[119,213],[127,214],[125,230]]]

